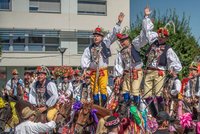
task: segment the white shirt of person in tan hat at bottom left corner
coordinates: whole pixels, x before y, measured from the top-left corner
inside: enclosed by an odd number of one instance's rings
[[[53,130],[56,127],[56,123],[54,121],[50,121],[47,123],[35,123],[32,121],[25,121],[17,125],[15,129],[15,134],[39,134],[45,133]]]

